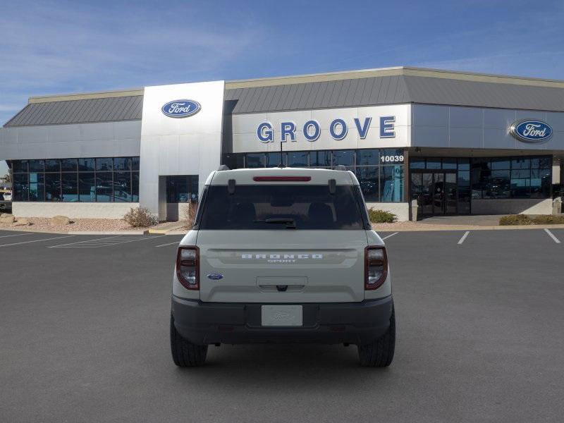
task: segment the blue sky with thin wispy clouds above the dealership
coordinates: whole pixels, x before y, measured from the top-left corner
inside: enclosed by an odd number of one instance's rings
[[[563,1],[0,0],[0,10],[1,124],[31,95],[200,80],[385,66],[564,79]]]

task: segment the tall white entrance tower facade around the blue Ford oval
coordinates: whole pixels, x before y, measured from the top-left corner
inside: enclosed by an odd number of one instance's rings
[[[221,162],[224,82],[146,87],[143,97],[140,154],[140,204],[159,215],[159,176],[197,175],[202,190]],[[168,102],[191,100],[196,113],[171,117]]]

